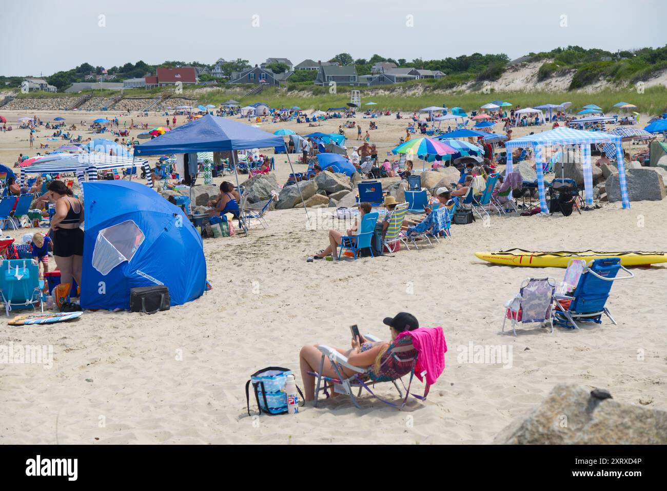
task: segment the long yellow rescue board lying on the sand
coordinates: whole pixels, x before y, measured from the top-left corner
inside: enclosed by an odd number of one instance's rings
[[[667,253],[644,253],[640,251],[619,253],[556,251],[553,253],[538,253],[524,251],[523,249],[510,249],[509,251],[500,251],[497,253],[475,253],[475,255],[484,261],[496,265],[527,266],[533,268],[566,268],[570,259],[583,259],[588,263],[594,259],[604,257],[620,257],[623,266],[648,266],[656,263],[667,263]]]

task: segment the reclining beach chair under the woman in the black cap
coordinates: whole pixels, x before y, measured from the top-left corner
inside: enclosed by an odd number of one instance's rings
[[[368,334],[365,334],[364,337],[368,339],[368,341],[380,341],[380,339]],[[363,389],[366,389],[379,401],[397,407],[398,409],[401,409],[404,407],[404,405],[406,405],[409,395],[412,395],[413,397],[416,397],[422,401],[426,400],[429,388],[428,385],[426,386],[426,391],[424,391],[423,396],[410,392],[410,386],[412,385],[412,379],[414,377],[414,370],[418,358],[418,351],[412,344],[412,337],[410,335],[406,335],[389,345],[386,353],[382,355],[382,359],[380,360],[379,373],[375,373],[373,367],[360,368],[352,365],[345,355],[339,351],[336,351],[336,349],[328,347],[327,345],[319,345],[317,349],[319,349],[319,351],[322,353],[321,362],[319,363],[319,371],[308,372],[309,375],[313,375],[313,377],[317,379],[317,383],[315,384],[315,401],[313,402],[314,407],[317,407],[317,403],[319,402],[319,393],[323,392],[326,397],[329,397],[329,390],[334,390],[338,393],[345,393],[349,395],[350,399],[352,399],[352,403],[358,409],[362,408],[359,405],[357,398],[362,395]],[[328,358],[331,361],[331,365],[336,371],[338,378],[321,375],[325,358]],[[354,375],[351,377],[346,377],[344,375],[344,368],[354,372]],[[410,381],[408,381],[408,386],[406,387],[402,377],[408,374],[410,374]],[[396,383],[398,380],[400,380],[404,386],[406,391],[405,395],[403,395],[400,387],[398,386],[398,383]],[[396,390],[398,390],[399,397],[403,399],[400,405],[386,401],[382,399],[382,397],[378,397],[378,395],[372,391],[372,387],[374,388],[378,383],[386,382],[391,382],[394,384],[394,387],[396,387]],[[354,389],[358,389],[356,396],[353,393]]]

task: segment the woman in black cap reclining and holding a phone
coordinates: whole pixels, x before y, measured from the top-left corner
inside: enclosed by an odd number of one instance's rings
[[[384,324],[390,327],[392,341],[404,331],[414,331],[419,328],[419,321],[414,315],[401,312],[396,317],[386,317]],[[371,342],[359,335],[356,339],[352,339],[351,349],[334,348],[336,351],[345,355],[348,363],[360,368],[373,367],[375,373],[380,372],[380,365],[382,363],[382,355],[386,353],[390,346],[388,341]],[[305,345],[301,348],[299,353],[299,367],[301,369],[301,379],[303,380],[303,389],[305,391],[305,400],[315,400],[315,376],[311,375],[313,372],[320,373],[325,377],[338,379],[338,373],[333,367],[331,361],[324,357],[318,349],[319,345]],[[319,371],[321,365],[321,371]],[[345,377],[352,377],[355,372],[348,367],[341,367],[342,374]],[[333,394],[335,395],[335,394]]]

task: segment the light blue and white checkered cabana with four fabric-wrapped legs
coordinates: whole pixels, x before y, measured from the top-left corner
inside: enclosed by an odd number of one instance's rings
[[[621,200],[623,208],[630,208],[630,197],[628,196],[628,184],[623,164],[622,140],[620,135],[604,132],[587,132],[574,130],[572,128],[555,128],[546,132],[526,135],[515,140],[505,142],[507,149],[506,172],[512,172],[512,150],[514,148],[532,147],[535,152],[536,172],[538,174],[538,191],[540,193],[540,208],[543,212],[548,210],[546,206],[546,193],[544,190],[544,150],[560,150],[563,146],[578,146],[582,155],[584,170],[584,188],[586,189],[586,206],[593,205],[593,170],[591,168],[590,146],[611,144],[616,148],[618,159],[618,181],[620,184]],[[554,148],[556,147],[556,148]]]

